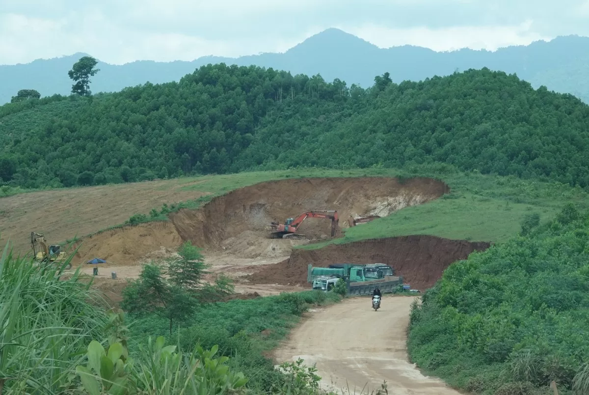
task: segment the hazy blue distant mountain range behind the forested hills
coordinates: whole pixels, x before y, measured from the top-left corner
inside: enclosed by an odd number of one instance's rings
[[[77,53],[27,64],[0,65],[0,104],[10,101],[21,89],[35,89],[41,96],[69,94],[72,81],[67,71],[79,58]],[[396,83],[419,81],[434,75],[448,75],[455,70],[488,67],[517,73],[535,88],[571,93],[589,103],[589,37],[557,37],[549,42],[501,48],[497,51],[462,49],[436,52],[428,48],[403,45],[382,49],[339,29],[327,29],[307,38],[282,54],[266,53],[239,58],[216,56],[193,61],[135,61],[124,65],[99,62],[100,73],[92,78],[93,93],[118,91],[124,87],[177,81],[209,63],[259,65],[288,70],[292,74],[321,74],[362,87],[372,85],[376,75],[389,72]]]

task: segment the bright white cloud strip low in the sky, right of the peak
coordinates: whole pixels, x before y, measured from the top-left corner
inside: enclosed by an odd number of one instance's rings
[[[517,26],[460,26],[439,29],[392,29],[365,25],[350,27],[347,31],[381,48],[409,44],[434,51],[452,51],[465,47],[495,51],[508,45],[528,45],[532,41],[552,38],[532,31],[531,26],[531,21]]]

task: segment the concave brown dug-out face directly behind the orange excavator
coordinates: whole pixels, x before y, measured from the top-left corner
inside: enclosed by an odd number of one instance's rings
[[[337,210],[337,237],[342,228],[349,227],[350,215],[386,216],[447,192],[445,183],[426,178],[403,183],[390,177],[287,179],[234,190],[211,200],[203,209],[183,209],[171,214],[170,219],[183,240],[210,250],[226,249],[224,242],[230,239],[258,242],[265,247],[272,243],[263,241],[272,221],[284,223],[287,218],[312,210]],[[329,220],[306,219],[297,232],[312,239],[327,239],[330,229]],[[241,252],[241,248],[237,251]]]

